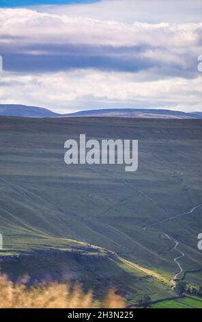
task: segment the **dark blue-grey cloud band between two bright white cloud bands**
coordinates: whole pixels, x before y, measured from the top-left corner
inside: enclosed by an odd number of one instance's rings
[[[154,53],[151,58],[147,57],[149,51]],[[161,51],[162,56],[165,56],[165,59],[159,57],[159,51]],[[137,73],[153,69],[160,78],[172,76],[192,78],[197,75],[197,52],[187,51],[186,55],[182,54],[176,61],[166,59],[167,54],[164,49],[153,48],[152,46],[96,47],[63,44],[1,49],[5,71],[51,73],[68,69],[90,68]]]

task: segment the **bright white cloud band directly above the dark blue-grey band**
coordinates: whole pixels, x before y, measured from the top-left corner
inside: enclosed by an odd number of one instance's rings
[[[202,23],[132,24],[99,21],[93,18],[47,14],[28,9],[1,9],[2,45],[61,43],[153,47],[188,47],[197,45]],[[8,38],[6,38],[8,36]],[[9,38],[11,37],[11,38]]]

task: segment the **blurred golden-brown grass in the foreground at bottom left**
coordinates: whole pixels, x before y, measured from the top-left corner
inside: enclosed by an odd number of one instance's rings
[[[48,282],[27,288],[26,280],[13,283],[0,276],[0,308],[124,308],[124,299],[112,288],[104,301],[84,293],[81,286]]]

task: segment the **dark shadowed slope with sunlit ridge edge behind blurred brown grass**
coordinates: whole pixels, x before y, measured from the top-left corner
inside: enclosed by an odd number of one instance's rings
[[[98,299],[104,299],[110,286],[126,298],[128,305],[136,304],[145,293],[153,300],[172,297],[169,286],[140,270],[131,269],[113,254],[104,251],[29,251],[18,253],[1,262],[1,270],[16,281],[29,275],[29,283],[36,280],[61,280],[79,283],[84,290],[92,289]]]

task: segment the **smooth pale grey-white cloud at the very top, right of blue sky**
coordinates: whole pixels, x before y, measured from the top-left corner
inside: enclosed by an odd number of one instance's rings
[[[46,5],[42,12],[96,18],[98,20],[147,23],[199,23],[201,0],[102,0],[83,5]]]

